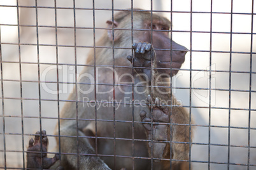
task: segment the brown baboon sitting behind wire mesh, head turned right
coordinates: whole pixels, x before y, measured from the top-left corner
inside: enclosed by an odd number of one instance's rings
[[[97,42],[95,53],[92,50],[87,58],[87,63],[93,66],[95,62],[96,67],[83,69],[62,108],[55,134],[60,129],[57,140],[60,139],[61,166],[65,169],[150,169],[150,156],[153,169],[169,169],[170,162],[160,159],[171,155],[175,160],[188,160],[189,147],[184,142],[189,142],[189,126],[184,124],[189,124],[189,115],[185,109],[153,105],[152,122],[182,124],[170,128],[168,124],[147,124],[151,122],[150,107],[138,105],[146,98],[158,104],[159,100],[171,99],[170,88],[163,88],[165,93],[161,93],[156,87],[152,91],[150,86],[159,80],[169,86],[167,75],[178,72],[187,49],[171,41],[171,23],[166,18],[141,10],[134,10],[132,16],[131,22],[131,11],[120,11],[114,20],[107,21],[110,29]],[[151,67],[159,68],[153,69],[153,77]],[[170,149],[168,142],[146,141],[152,139],[181,143],[172,143]],[[36,145],[31,141],[30,150]],[[173,169],[188,169],[186,161],[173,161],[172,165]]]

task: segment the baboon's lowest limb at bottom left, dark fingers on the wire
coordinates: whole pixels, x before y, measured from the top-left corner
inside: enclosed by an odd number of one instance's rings
[[[77,139],[76,128],[65,126],[65,128],[60,129],[60,134],[61,159],[59,154],[55,154],[52,158],[47,157],[48,138],[46,131],[38,131],[35,138],[29,140],[27,168],[56,170],[64,170],[64,168],[78,169],[78,167],[79,169],[93,170],[110,169],[99,157],[89,156],[95,155],[94,148],[91,147],[86,138]],[[40,136],[42,137],[41,140]],[[83,134],[82,131],[78,131],[78,136],[82,137],[85,136],[85,134]]]

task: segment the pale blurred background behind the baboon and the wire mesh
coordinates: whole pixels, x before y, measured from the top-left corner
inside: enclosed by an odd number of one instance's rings
[[[252,6],[252,1],[212,0],[211,17],[210,0],[173,0],[173,40],[192,49],[192,53],[186,55],[183,70],[173,77],[173,93],[187,107],[191,94],[191,113],[198,125],[193,141],[197,144],[191,150],[194,169],[208,169],[209,157],[210,169],[227,169],[228,159],[230,169],[247,169],[248,159],[250,169],[256,169],[256,3]],[[4,169],[4,141],[7,167],[23,167],[22,148],[28,147],[32,136],[25,135],[22,140],[22,127],[24,134],[38,131],[41,112],[42,129],[53,134],[58,110],[73,89],[69,82],[75,82],[75,69],[67,67],[75,64],[73,1],[56,0],[56,4],[57,42],[54,0],[38,0],[38,13],[31,8],[36,6],[34,0],[18,1],[22,6],[18,10],[16,0],[0,0],[3,87],[0,86],[4,94],[1,94],[3,104],[0,105],[0,169]],[[76,61],[82,65],[94,42],[93,30],[89,29],[93,27],[93,11],[88,10],[92,9],[92,1],[76,0],[75,4]],[[131,8],[131,0],[114,0],[113,6],[115,9]],[[110,0],[95,0],[95,8],[102,9],[95,11],[96,27],[106,27],[112,11],[104,9],[111,7]],[[134,0],[133,8],[150,10],[151,1]],[[155,0],[153,10],[170,11],[171,3]],[[168,12],[162,15],[171,17]],[[25,25],[19,31],[18,17],[19,25]],[[104,30],[96,29],[96,41],[103,33]],[[57,53],[56,43],[59,45]],[[57,59],[61,66],[59,81],[65,82],[59,84],[62,90],[59,107],[57,94],[48,93],[49,89],[57,90],[56,69],[49,69],[55,68]],[[80,72],[83,67],[77,68]],[[189,69],[194,69],[191,80]],[[49,70],[47,74],[45,70]],[[53,137],[49,140],[51,150],[56,144]],[[211,144],[210,154],[208,143]],[[231,145],[229,153],[228,145]]]

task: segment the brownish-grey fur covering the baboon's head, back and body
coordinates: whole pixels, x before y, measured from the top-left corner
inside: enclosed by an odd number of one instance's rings
[[[154,29],[168,29],[170,27],[170,22],[166,18],[153,14],[153,22],[151,23],[151,13],[146,11],[134,11],[133,12],[133,41],[131,39],[131,11],[121,11],[114,16],[114,21],[108,21],[108,28],[106,33],[101,37],[101,39],[96,43],[96,53],[94,50],[90,51],[89,56],[87,57],[87,64],[94,65],[113,65],[113,46],[115,51],[115,66],[129,66],[123,68],[115,68],[116,74],[118,76],[123,74],[132,74],[131,63],[127,60],[127,55],[131,55],[131,45],[132,42],[151,42],[151,37],[153,37],[153,46],[158,49],[169,49],[170,42],[168,32],[157,32],[151,31],[151,26]],[[112,25],[113,23],[113,25]],[[112,28],[114,27],[114,36]],[[128,29],[128,30],[124,30]],[[143,30],[141,30],[143,29]],[[146,31],[146,29],[148,31]],[[151,35],[152,34],[152,35]],[[114,40],[114,41],[112,41]],[[97,47],[106,47],[106,48],[97,48]],[[180,69],[181,64],[184,61],[186,50],[182,46],[176,44],[173,41],[173,49],[180,49],[181,51],[157,51],[155,58],[155,67],[170,67],[162,66],[159,61],[170,61],[170,56],[173,56],[172,67],[174,69]],[[95,56],[95,58],[94,58]],[[94,61],[95,60],[95,61]],[[162,72],[162,70],[156,71],[155,75]],[[174,75],[178,71],[169,72],[169,70],[164,71],[166,74]],[[94,77],[94,67],[85,67],[82,74],[90,74]],[[99,83],[104,83],[104,86],[97,85],[98,90],[108,90],[112,87],[113,84],[113,72],[108,68],[99,69],[97,71],[99,74],[98,80]],[[169,81],[169,79],[162,79],[163,81]],[[82,84],[81,84],[82,82]],[[115,82],[115,84],[131,84],[132,78],[129,76],[124,77],[123,82]],[[141,77],[136,77],[134,74],[134,83],[141,82]],[[106,85],[110,84],[110,86]],[[140,84],[143,85],[143,84]],[[78,88],[83,89],[84,91],[90,86],[94,86],[94,82],[91,82],[87,77],[80,77],[80,80],[77,84]],[[144,88],[139,88],[144,89]],[[115,140],[115,153],[117,155],[124,155],[127,157],[149,157],[150,151],[148,152],[147,143],[145,141],[137,140],[146,140],[145,129],[143,125],[139,123],[141,121],[139,117],[139,112],[141,110],[146,110],[150,112],[148,107],[134,107],[132,109],[131,105],[120,105],[119,108],[115,108],[115,120],[113,119],[114,113],[113,107],[104,107],[96,108],[88,107],[87,101],[84,101],[84,98],[89,100],[94,100],[95,98],[95,89],[89,94],[82,94],[78,89],[74,88],[73,93],[69,95],[68,101],[62,108],[60,114],[60,127],[56,128],[55,134],[59,134],[60,129],[60,149],[61,149],[61,164],[66,169],[121,169],[125,167],[127,169],[150,169],[150,160],[148,159],[129,159],[125,157],[97,157],[95,154],[102,155],[114,155],[114,138]],[[170,90],[169,88],[165,89],[166,91]],[[97,100],[105,100],[109,97],[113,98],[113,91],[108,94],[102,95],[96,91]],[[122,93],[122,91],[128,92],[132,91],[131,86],[122,86],[120,89],[115,89],[115,99],[122,99],[124,103],[124,98],[128,97],[132,99],[131,95]],[[146,96],[150,93],[153,93],[153,98],[159,97],[162,100],[168,100],[171,96],[161,95],[157,91],[147,91],[145,94],[137,94],[134,92],[134,100],[145,100]],[[79,96],[76,96],[76,95]],[[78,100],[78,102],[76,102]],[[82,101],[82,102],[80,102]],[[173,103],[176,103],[176,99],[173,97]],[[134,117],[132,112],[134,111]],[[96,112],[97,111],[97,117]],[[171,110],[170,110],[171,111]],[[175,124],[189,124],[189,115],[185,108],[182,107],[173,107],[171,115],[172,123]],[[95,119],[103,121],[94,121]],[[104,121],[105,120],[105,121]],[[106,121],[108,120],[108,121]],[[127,122],[125,122],[127,121]],[[134,124],[129,123],[135,121]],[[114,126],[115,122],[115,126]],[[78,123],[78,124],[77,124]],[[78,131],[77,131],[78,126]],[[133,126],[133,127],[132,127]],[[96,129],[97,127],[97,129]],[[134,133],[132,129],[134,128]],[[113,131],[115,130],[115,134]],[[78,132],[78,133],[77,133]],[[115,136],[114,136],[115,135]],[[169,132],[170,140],[172,141],[181,141],[189,142],[189,126],[183,125],[173,125],[172,132]],[[79,138],[77,137],[79,136]],[[96,138],[97,136],[97,138]],[[88,138],[89,137],[89,138]],[[100,138],[99,138],[100,137]],[[134,137],[134,143],[130,140],[122,140],[124,138],[131,139]],[[59,138],[56,138],[57,141]],[[92,143],[97,142],[92,145]],[[134,146],[134,148],[132,148]],[[172,159],[177,160],[188,160],[188,144],[172,144]],[[164,149],[164,148],[162,148]],[[164,158],[169,158],[170,146],[164,150]],[[134,150],[134,154],[132,154]],[[96,153],[97,152],[97,153]],[[78,154],[82,154],[79,155]],[[78,160],[79,158],[79,160]],[[78,164],[79,162],[79,164]],[[114,163],[115,162],[115,163]],[[169,169],[169,161],[161,161],[161,166],[154,166],[153,169]],[[133,167],[134,166],[134,167]],[[178,163],[173,161],[174,169],[188,169],[187,163]]]

